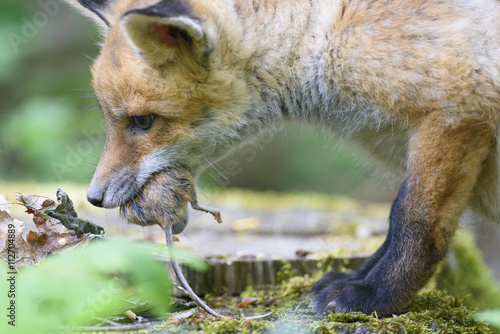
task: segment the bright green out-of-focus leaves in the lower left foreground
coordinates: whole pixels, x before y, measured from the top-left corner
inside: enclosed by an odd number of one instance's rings
[[[15,285],[11,289],[15,296],[9,299],[15,302],[15,319],[10,320],[15,320],[15,326],[2,321],[0,331],[59,332],[63,326],[89,326],[96,318],[139,308],[164,315],[171,284],[164,265],[152,256],[156,250],[156,246],[130,240],[93,241],[83,248],[53,254],[15,275],[7,274],[9,269],[1,263],[3,277],[12,279],[0,281],[2,291]]]

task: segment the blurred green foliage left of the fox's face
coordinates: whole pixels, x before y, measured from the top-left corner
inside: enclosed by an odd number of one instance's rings
[[[90,87],[95,29],[59,1],[7,0],[0,38],[0,177],[88,180],[103,141],[81,148],[78,161],[70,152],[102,124]]]

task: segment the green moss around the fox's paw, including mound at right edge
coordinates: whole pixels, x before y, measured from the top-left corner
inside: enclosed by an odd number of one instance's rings
[[[309,307],[308,292],[322,274],[332,269],[331,256],[325,256],[312,276],[295,276],[289,264],[280,271],[281,286],[276,289],[258,290],[249,287],[239,297],[224,297],[208,303],[233,318],[214,319],[198,316],[175,325],[165,325],[162,330],[172,333],[491,333],[489,326],[480,320],[470,305],[494,305],[499,302],[493,276],[486,269],[472,238],[461,233],[453,246],[454,254],[462,262],[452,271],[441,267],[436,281],[445,285],[450,295],[436,290],[430,284],[418,294],[401,314],[378,317],[361,313],[329,314],[318,317]],[[338,256],[338,254],[330,254]],[[346,260],[348,267],[348,260]],[[338,268],[337,268],[338,269]],[[446,279],[446,281],[445,281]],[[477,280],[477,281],[476,281]],[[453,287],[453,289],[450,289]],[[457,293],[458,291],[458,293]],[[471,294],[470,298],[466,295]],[[477,295],[476,295],[477,294]],[[488,296],[491,294],[492,296]],[[460,296],[460,297],[457,297]],[[256,303],[238,308],[241,298],[257,297]],[[472,300],[472,303],[471,303]],[[491,307],[491,306],[490,306]],[[273,316],[249,321],[251,316],[273,312]],[[236,317],[236,318],[235,318]],[[172,327],[174,326],[174,327]]]

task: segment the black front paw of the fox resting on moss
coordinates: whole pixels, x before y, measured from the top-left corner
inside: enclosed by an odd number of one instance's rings
[[[328,276],[330,279],[332,277],[334,275]],[[365,314],[377,312],[379,315],[390,315],[400,307],[393,302],[394,298],[391,293],[383,286],[372,286],[364,279],[330,280],[330,283],[327,283],[326,278],[323,277],[312,291],[312,305],[319,315],[325,315],[328,312],[362,312]]]

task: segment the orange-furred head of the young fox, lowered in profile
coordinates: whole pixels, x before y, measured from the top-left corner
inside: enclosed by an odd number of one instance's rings
[[[92,204],[119,206],[177,165],[196,177],[264,123],[245,80],[250,52],[226,0],[74,4],[105,37],[92,66],[107,129]]]

